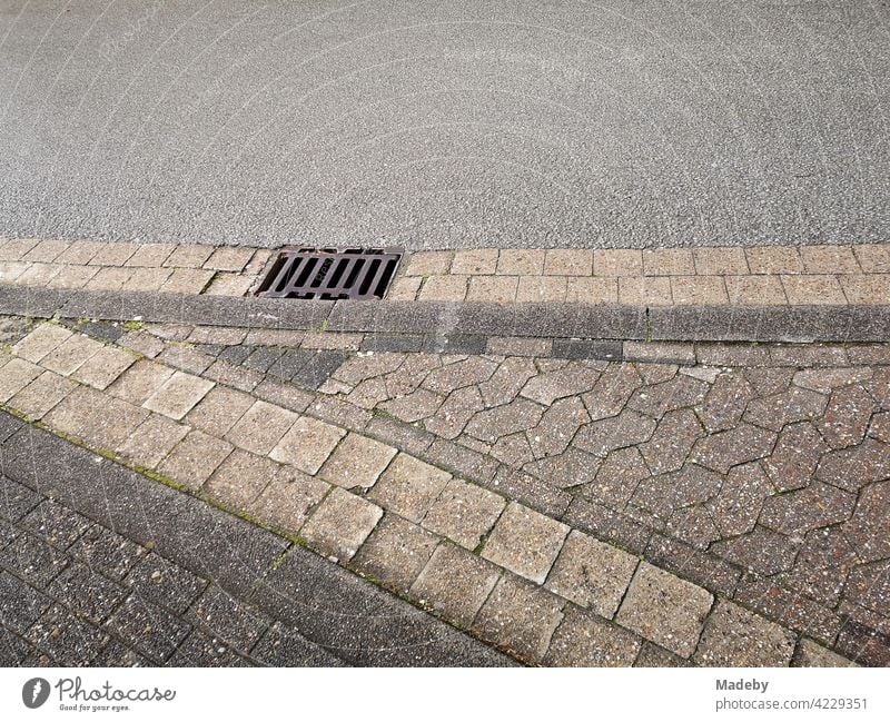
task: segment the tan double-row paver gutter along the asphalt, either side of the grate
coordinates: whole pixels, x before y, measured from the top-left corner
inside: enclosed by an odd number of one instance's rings
[[[273,251],[209,245],[0,240],[0,283],[243,296]],[[890,245],[497,249],[411,254],[387,298],[631,306],[890,303]]]

